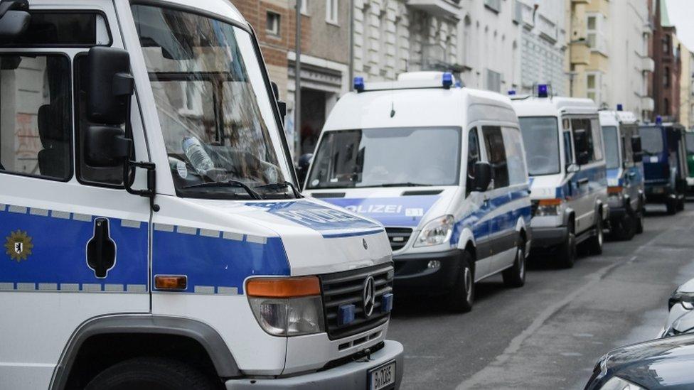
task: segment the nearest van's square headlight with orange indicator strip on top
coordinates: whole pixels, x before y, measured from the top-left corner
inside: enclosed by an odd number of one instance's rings
[[[255,319],[270,335],[325,331],[321,286],[316,276],[250,279],[246,294]]]

